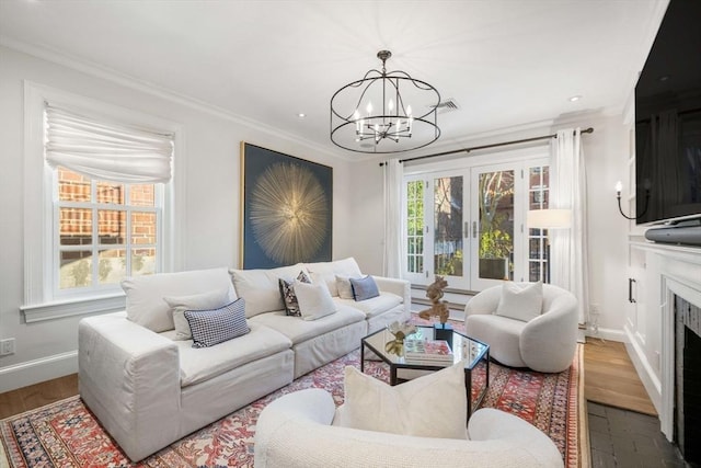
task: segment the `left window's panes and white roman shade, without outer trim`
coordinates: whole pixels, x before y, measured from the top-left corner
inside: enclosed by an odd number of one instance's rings
[[[172,136],[48,103],[45,114],[54,296],[118,289],[126,276],[160,272]]]

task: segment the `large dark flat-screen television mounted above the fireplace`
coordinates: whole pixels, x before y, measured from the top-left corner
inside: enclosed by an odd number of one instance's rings
[[[635,202],[639,225],[701,218],[701,0],[669,2],[635,85]]]

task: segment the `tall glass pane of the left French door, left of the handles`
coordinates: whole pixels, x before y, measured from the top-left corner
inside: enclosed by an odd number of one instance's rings
[[[462,176],[434,183],[434,271],[462,276]]]

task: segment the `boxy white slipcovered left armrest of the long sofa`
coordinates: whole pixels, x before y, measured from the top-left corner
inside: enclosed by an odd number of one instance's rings
[[[180,357],[176,344],[108,313],[78,326],[83,401],[133,460],[177,438]]]

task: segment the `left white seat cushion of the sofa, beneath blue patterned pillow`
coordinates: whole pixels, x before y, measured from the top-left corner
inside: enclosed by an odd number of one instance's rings
[[[297,319],[298,321],[301,321]],[[192,341],[176,341],[181,387],[199,384],[244,364],[289,350],[292,342],[281,333],[249,321],[251,331],[211,347],[192,347]],[[171,336],[172,332],[162,333]]]

